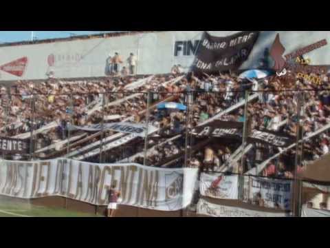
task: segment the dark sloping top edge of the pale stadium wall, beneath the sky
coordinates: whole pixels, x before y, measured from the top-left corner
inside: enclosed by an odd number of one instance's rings
[[[43,40],[39,40],[39,41],[18,41],[18,42],[1,43],[0,48],[8,47],[8,46],[15,46],[15,45],[36,45],[36,44],[43,44],[43,43],[55,43],[55,42],[61,42],[61,41],[76,41],[76,40],[80,40],[80,39],[98,39],[98,38],[120,37],[120,36],[125,36],[125,35],[151,33],[151,32],[164,32],[164,31],[124,31],[124,32],[115,32],[115,33],[85,34],[85,35],[78,35],[75,37],[43,39]]]

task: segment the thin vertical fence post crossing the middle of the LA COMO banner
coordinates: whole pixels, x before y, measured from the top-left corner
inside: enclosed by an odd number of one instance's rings
[[[244,194],[244,155],[245,146],[248,136],[248,103],[249,103],[249,90],[245,90],[245,106],[244,106],[244,125],[243,125],[243,137],[242,137],[242,156],[241,164],[239,165],[239,199],[243,201]]]

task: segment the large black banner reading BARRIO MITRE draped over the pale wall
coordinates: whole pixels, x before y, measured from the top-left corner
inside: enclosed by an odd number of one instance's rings
[[[197,73],[236,70],[248,59],[258,37],[259,31],[229,37],[212,37],[204,32],[191,69]]]

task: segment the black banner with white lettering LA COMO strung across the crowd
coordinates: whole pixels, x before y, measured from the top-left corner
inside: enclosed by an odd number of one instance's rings
[[[241,140],[243,136],[243,123],[234,121],[212,121],[192,130],[192,134],[198,137],[236,138]],[[288,147],[294,141],[278,132],[269,130],[252,130],[248,137],[248,143],[266,143],[276,147]]]

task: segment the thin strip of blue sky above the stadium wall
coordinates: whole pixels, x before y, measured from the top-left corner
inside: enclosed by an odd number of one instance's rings
[[[33,31],[34,39],[66,38],[70,35],[99,34],[113,31]],[[71,34],[70,34],[71,33]],[[0,43],[31,41],[32,31],[0,31]]]

